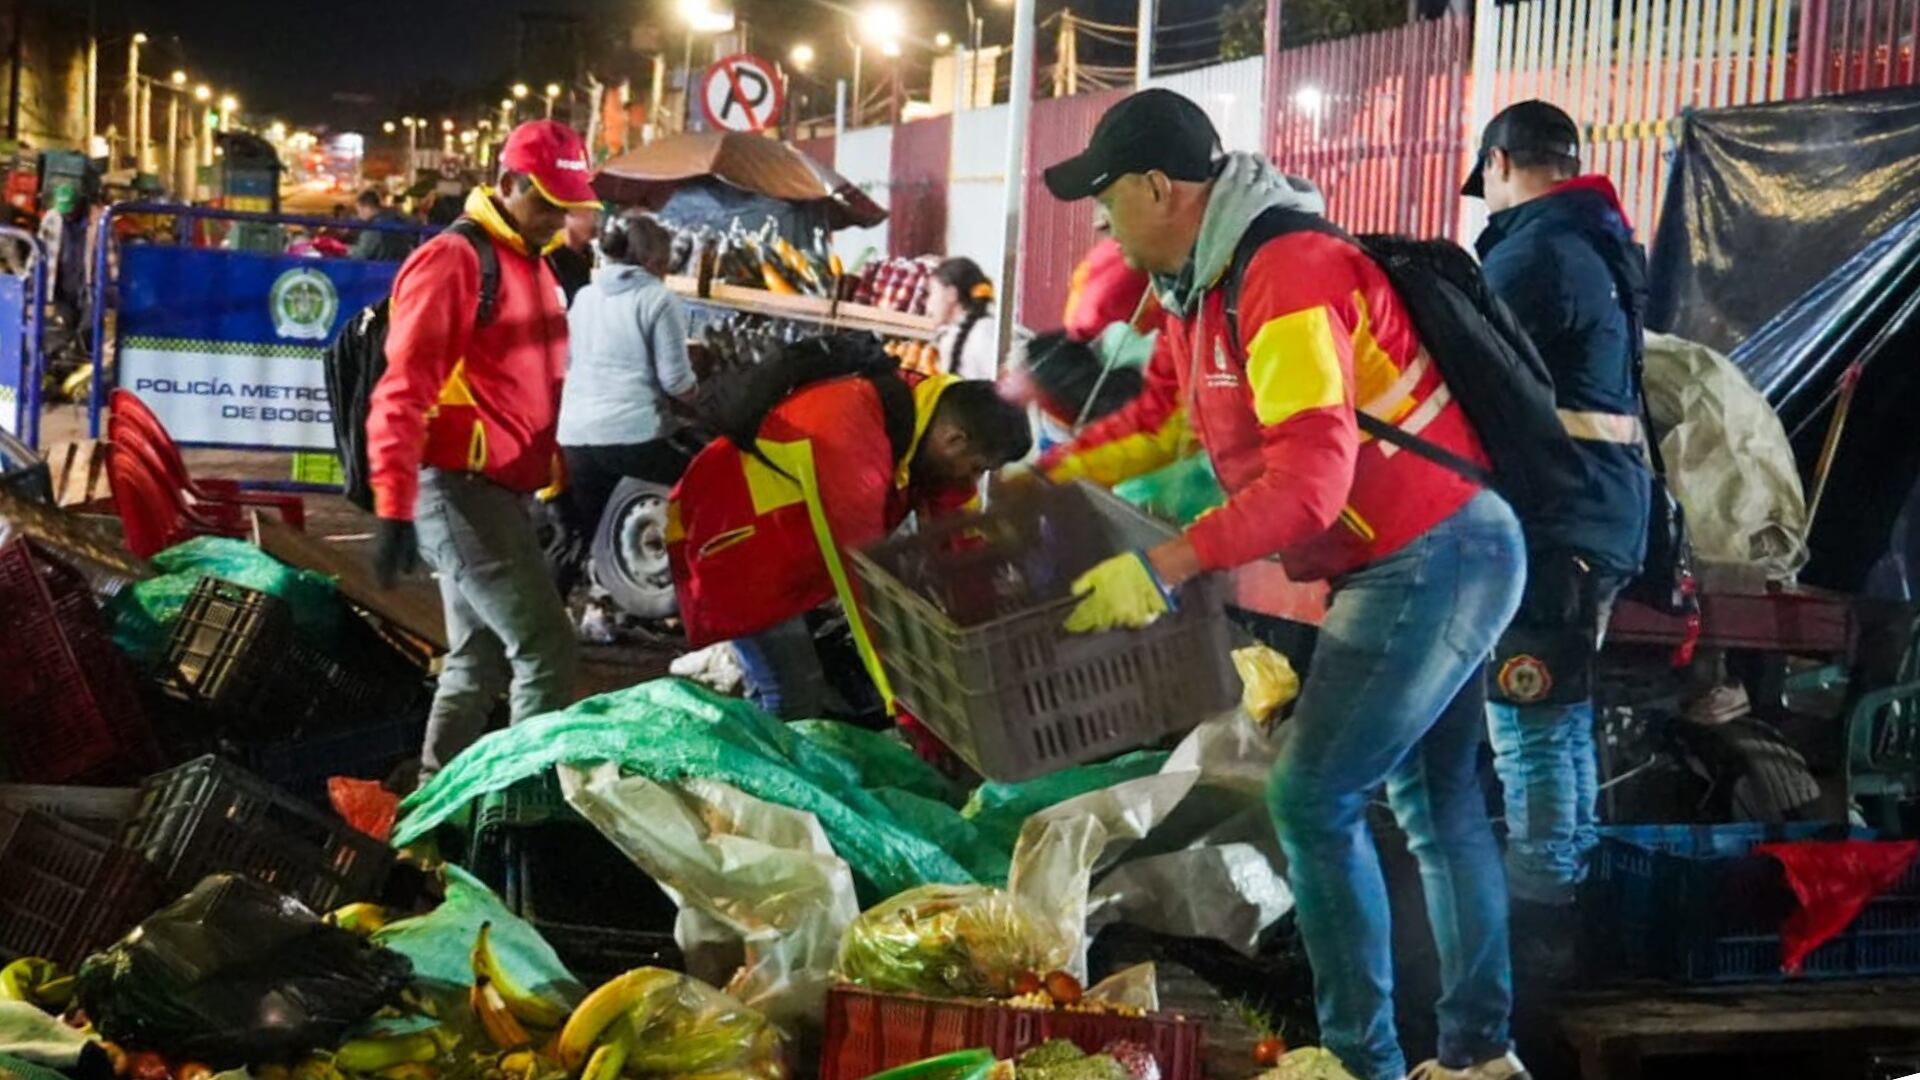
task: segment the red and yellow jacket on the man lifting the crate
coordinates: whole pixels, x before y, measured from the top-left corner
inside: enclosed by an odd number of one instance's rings
[[[1202,565],[1279,555],[1294,580],[1390,555],[1475,496],[1457,473],[1357,429],[1354,409],[1367,409],[1486,463],[1386,275],[1359,248],[1321,233],[1265,242],[1240,281],[1238,342],[1225,340],[1217,284],[1188,317],[1165,315],[1140,396],[1043,457],[1050,477],[1117,484],[1198,438],[1229,496],[1187,530]]]

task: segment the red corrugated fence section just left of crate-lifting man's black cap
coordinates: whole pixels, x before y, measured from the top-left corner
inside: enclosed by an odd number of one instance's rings
[[[1127,90],[1100,90],[1077,98],[1033,102],[1027,125],[1027,188],[1020,231],[1020,307],[1027,327],[1060,327],[1068,282],[1087,248],[1092,248],[1092,202],[1060,202],[1041,181],[1048,165],[1087,148],[1092,125]]]

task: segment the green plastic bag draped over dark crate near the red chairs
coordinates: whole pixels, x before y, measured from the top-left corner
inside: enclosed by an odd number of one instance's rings
[[[332,646],[340,636],[344,613],[334,578],[288,567],[252,544],[196,536],[152,563],[157,577],[119,590],[106,607],[113,644],[140,665],[152,665],[167,650],[173,625],[204,577],[278,596],[294,613],[294,628],[315,646]]]

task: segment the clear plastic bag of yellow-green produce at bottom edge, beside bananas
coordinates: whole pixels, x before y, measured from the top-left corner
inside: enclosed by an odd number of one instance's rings
[[[561,1067],[584,1080],[789,1076],[780,1028],[766,1015],[659,967],[634,969],[588,994],[557,1047]]]

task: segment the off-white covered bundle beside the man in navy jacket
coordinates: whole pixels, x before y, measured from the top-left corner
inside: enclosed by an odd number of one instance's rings
[[[1724,356],[1668,334],[1647,334],[1645,392],[1693,553],[1793,580],[1807,563],[1807,498],[1766,398]]]

